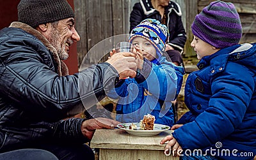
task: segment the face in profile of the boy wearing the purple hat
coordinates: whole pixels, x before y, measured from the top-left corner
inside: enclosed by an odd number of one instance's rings
[[[205,41],[201,40],[197,36],[194,36],[193,41],[191,42],[191,47],[194,48],[196,54],[197,54],[197,59],[202,59],[202,57],[207,56],[207,55],[212,55],[215,52],[217,52],[220,49],[216,49],[209,43],[206,43]]]

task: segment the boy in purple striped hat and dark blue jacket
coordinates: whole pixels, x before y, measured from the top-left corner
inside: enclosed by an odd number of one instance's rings
[[[180,159],[253,159],[256,155],[256,43],[239,45],[234,4],[214,1],[191,25],[198,71],[188,76],[185,113],[161,144]]]

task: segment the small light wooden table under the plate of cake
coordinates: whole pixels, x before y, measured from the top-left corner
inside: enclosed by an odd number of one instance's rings
[[[179,159],[165,156],[165,145],[160,145],[160,141],[170,134],[168,130],[157,136],[133,136],[122,129],[97,129],[90,146],[100,149],[99,160]]]

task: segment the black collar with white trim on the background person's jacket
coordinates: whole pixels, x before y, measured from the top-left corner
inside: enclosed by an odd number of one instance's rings
[[[156,9],[152,6],[151,0],[140,0],[140,4],[145,15],[150,15],[156,11]],[[182,15],[179,4],[175,2],[170,1],[167,8],[169,13],[175,11],[177,15]]]

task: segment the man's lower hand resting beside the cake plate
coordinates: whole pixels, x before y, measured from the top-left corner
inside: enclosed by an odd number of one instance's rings
[[[120,124],[120,122],[112,119],[106,119],[106,118],[97,118],[97,119],[89,119],[84,120],[81,126],[81,131],[86,138],[89,140],[92,140],[92,136],[96,129],[113,129],[116,127],[117,124]]]

